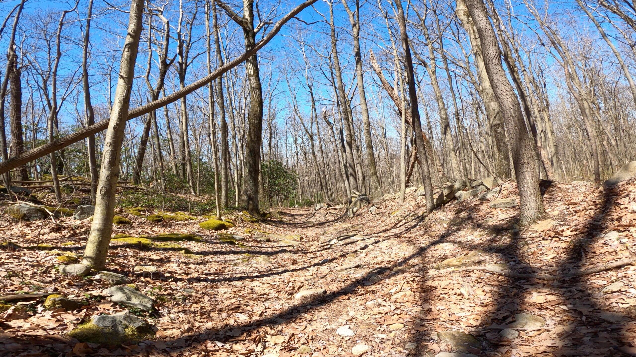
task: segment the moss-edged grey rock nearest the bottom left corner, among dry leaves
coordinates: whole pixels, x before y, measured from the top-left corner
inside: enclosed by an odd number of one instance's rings
[[[79,342],[121,345],[149,340],[155,336],[155,331],[134,314],[119,313],[92,316],[88,323],[79,325],[68,335]]]

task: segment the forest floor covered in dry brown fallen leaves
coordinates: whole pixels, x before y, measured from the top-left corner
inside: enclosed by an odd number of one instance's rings
[[[222,241],[198,226],[200,217],[157,224],[121,213],[133,224],[114,233],[202,240],[178,242],[191,254],[111,246],[107,269],[156,300],[156,311],[137,314],[158,329],[154,340],[115,347],[66,335],[89,316],[127,311],[100,295],[109,284],[54,268],[59,255],[81,256],[90,222],[3,220],[3,237],[17,245],[53,247],[0,250],[0,295],[55,292],[90,304],[63,312],[45,309],[43,300],[18,303],[26,311],[0,314],[0,354],[636,355],[636,266],[585,272],[635,257],[636,179],[613,189],[554,183],[544,192],[549,217],[522,228],[518,207],[474,198],[424,217],[424,196],[412,190],[403,205],[385,199],[375,215],[363,208],[352,219],[342,209],[310,208],[272,210],[259,223],[236,218],[225,232],[242,241]],[[515,185],[503,184],[497,198],[518,200]],[[135,271],[144,264],[156,271]],[[580,275],[523,275],[532,273]],[[308,289],[319,290],[295,297]],[[475,339],[443,333],[453,330]]]

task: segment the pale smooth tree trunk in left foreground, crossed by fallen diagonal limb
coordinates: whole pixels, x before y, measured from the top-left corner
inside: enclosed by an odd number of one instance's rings
[[[120,173],[121,143],[123,142],[130,105],[130,91],[135,77],[135,61],[137,60],[137,50],[139,50],[143,8],[143,0],[132,0],[128,35],[121,52],[119,79],[104,142],[95,214],[82,259],[83,264],[88,264],[95,270],[104,269],[111,232],[113,231],[115,191]]]

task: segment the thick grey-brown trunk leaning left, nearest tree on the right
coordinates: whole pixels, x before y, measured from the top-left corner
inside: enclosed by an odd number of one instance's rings
[[[501,63],[499,43],[488,19],[485,4],[483,0],[467,0],[466,3],[481,39],[481,51],[488,79],[493,84],[495,97],[506,119],[521,201],[520,223],[527,225],[536,222],[545,214],[535,165],[536,155],[532,146],[534,143],[528,135],[515,90],[508,81]]]

